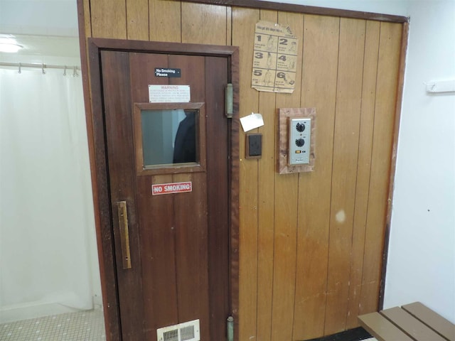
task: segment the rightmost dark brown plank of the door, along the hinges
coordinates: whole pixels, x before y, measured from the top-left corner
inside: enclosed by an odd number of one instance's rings
[[[218,200],[208,201],[208,276],[210,297],[218,300],[210,301],[210,335],[213,339],[221,339],[225,334],[225,321],[230,311],[230,217],[229,217],[229,179],[220,176],[221,172],[229,169],[228,158],[221,150],[229,150],[229,120],[225,117],[224,90],[228,84],[228,58],[205,57],[205,96],[213,99],[207,102],[207,141],[217,141],[216,147],[208,145],[208,188],[209,197],[219,197]],[[225,136],[220,139],[220,136]],[[237,202],[238,205],[238,202]],[[232,309],[234,309],[232,307]]]

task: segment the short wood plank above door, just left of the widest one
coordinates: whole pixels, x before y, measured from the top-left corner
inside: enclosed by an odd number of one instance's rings
[[[181,1],[149,0],[149,37],[181,43]]]

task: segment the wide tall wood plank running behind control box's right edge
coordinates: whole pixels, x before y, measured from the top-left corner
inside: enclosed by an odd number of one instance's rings
[[[339,18],[305,16],[302,107],[316,108],[314,172],[299,177],[294,340],[323,335]]]

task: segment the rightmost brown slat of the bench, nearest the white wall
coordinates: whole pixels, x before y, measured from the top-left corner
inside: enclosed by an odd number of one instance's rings
[[[432,328],[432,330],[442,337],[445,337],[449,341],[455,341],[455,325],[430,308],[427,308],[427,306],[420,302],[414,302],[402,305],[402,308],[414,316],[414,318],[417,318],[417,320],[428,325],[429,328]]]

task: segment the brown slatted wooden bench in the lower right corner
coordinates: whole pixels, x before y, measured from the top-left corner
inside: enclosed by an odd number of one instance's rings
[[[358,317],[379,341],[455,341],[455,325],[416,302]]]

